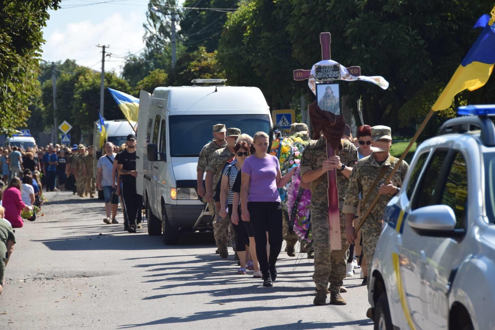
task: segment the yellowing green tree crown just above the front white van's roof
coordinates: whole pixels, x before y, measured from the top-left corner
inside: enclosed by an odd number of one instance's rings
[[[192,53],[185,53],[179,59],[175,70],[169,75],[169,86],[191,86],[193,79],[224,78],[225,73],[218,65],[217,51],[212,53],[201,46]]]

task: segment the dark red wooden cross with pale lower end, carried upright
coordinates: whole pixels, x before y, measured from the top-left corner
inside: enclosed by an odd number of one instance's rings
[[[330,32],[320,33],[321,59],[329,60],[330,43],[332,38]],[[349,74],[353,76],[361,75],[359,66],[350,66],[347,68]],[[294,70],[294,80],[309,79],[311,70]],[[327,158],[335,156],[335,150],[327,142]],[[337,172],[331,170],[328,174],[328,222],[330,225],[330,248],[332,250],[342,249],[341,224],[340,224],[340,209],[339,209],[339,190],[337,189]]]

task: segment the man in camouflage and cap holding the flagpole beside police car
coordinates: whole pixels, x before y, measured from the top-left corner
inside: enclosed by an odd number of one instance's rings
[[[389,153],[392,145],[392,130],[388,126],[373,126],[371,128],[371,140],[371,145],[377,151],[358,160],[352,169],[346,191],[345,205],[342,209],[342,212],[346,213],[347,243],[350,244],[356,239],[352,221],[357,214],[359,194],[363,197],[361,201],[361,214],[364,214],[368,210],[376,195],[380,194],[378,203],[361,227],[363,253],[368,261],[368,269],[371,269],[376,243],[382,230],[385,207],[400,190],[409,169],[409,165],[405,161],[402,161],[392,177],[391,183],[386,185],[386,178],[399,161],[398,158],[391,156]],[[378,185],[372,187],[373,182],[377,179]],[[370,281],[367,284],[369,288]],[[366,316],[371,318],[371,308],[368,309]]]

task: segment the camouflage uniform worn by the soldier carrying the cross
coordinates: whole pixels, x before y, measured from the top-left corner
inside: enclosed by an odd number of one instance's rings
[[[341,163],[346,166],[354,166],[357,161],[357,150],[354,144],[342,140],[343,149],[337,154]],[[321,137],[317,141],[309,142],[302,153],[301,176],[308,170],[321,168],[322,162],[327,159],[326,141]],[[344,206],[344,196],[347,189],[347,178],[337,171],[337,188],[339,190],[339,209]],[[330,248],[329,222],[328,222],[328,174],[323,174],[323,179],[315,187],[316,180],[311,183],[311,233],[314,242],[314,274],[313,281],[318,291],[326,292],[330,282],[330,292],[339,293],[346,278],[346,258],[339,264],[336,263],[341,251]],[[346,217],[341,214],[341,239],[346,243]]]

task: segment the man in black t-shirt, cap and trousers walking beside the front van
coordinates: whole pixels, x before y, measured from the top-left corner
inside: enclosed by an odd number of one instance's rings
[[[126,141],[126,150],[118,156],[117,172],[122,181],[122,200],[124,202],[129,233],[136,233],[136,216],[142,205],[142,196],[136,193],[136,136],[129,134]]]

